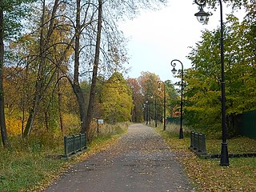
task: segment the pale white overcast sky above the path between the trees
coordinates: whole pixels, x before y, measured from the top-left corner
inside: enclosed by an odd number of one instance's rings
[[[130,58],[130,72],[128,78],[138,78],[142,71],[157,74],[162,81],[180,81],[171,73],[170,62],[178,59],[184,69],[191,67],[186,56],[190,53],[190,46],[200,41],[202,30],[213,30],[220,26],[219,9],[212,12],[209,23],[202,25],[194,16],[198,6],[193,0],[170,0],[161,10],[142,10],[142,13],[133,20],[119,24],[128,42],[128,56]],[[182,12],[183,15],[179,15]],[[230,13],[230,9],[223,4],[223,18]],[[235,14],[242,18],[242,10]],[[181,69],[177,63],[176,69]]]

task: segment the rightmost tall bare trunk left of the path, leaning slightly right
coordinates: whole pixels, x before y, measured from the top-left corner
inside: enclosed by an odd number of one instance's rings
[[[90,122],[92,121],[93,114],[94,114],[94,98],[95,98],[97,73],[98,73],[101,34],[102,34],[102,0],[98,0],[98,26],[97,26],[97,39],[96,39],[95,55],[94,55],[94,69],[93,69],[92,82],[90,86],[89,106],[88,106],[87,115],[86,115],[87,132],[90,132]]]

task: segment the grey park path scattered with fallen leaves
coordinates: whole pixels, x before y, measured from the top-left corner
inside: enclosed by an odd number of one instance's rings
[[[194,190],[164,139],[153,128],[134,124],[114,146],[70,167],[45,191]]]

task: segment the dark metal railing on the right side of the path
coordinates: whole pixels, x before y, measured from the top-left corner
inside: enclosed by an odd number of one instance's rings
[[[206,153],[206,135],[191,131],[190,133],[190,149],[198,154]]]

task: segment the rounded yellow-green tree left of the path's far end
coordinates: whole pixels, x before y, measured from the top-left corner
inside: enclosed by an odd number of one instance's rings
[[[102,88],[102,108],[107,122],[130,121],[132,93],[122,74],[115,72]]]

